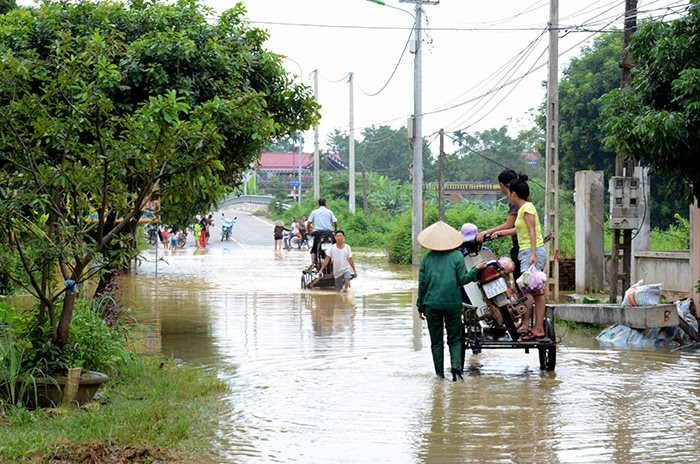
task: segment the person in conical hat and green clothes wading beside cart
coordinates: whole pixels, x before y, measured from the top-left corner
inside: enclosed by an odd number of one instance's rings
[[[462,378],[462,294],[460,287],[476,280],[484,263],[467,272],[464,257],[457,248],[462,234],[438,221],[418,234],[418,243],[430,250],[418,271],[418,300],[421,319],[428,321],[435,373],[444,377],[445,355],[443,332],[447,330],[452,380]]]

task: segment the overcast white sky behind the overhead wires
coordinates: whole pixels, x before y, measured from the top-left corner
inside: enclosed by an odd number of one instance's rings
[[[321,148],[326,146],[331,131],[348,130],[347,80],[329,81],[343,79],[349,72],[355,76],[356,139],[361,138],[365,126],[384,123],[398,128],[413,113],[414,55],[408,49],[387,87],[374,97],[363,94],[363,91],[377,92],[389,80],[413,26],[412,17],[395,9],[412,14],[412,3],[385,2],[394,8],[367,0],[243,0],[248,19],[270,33],[267,48],[290,58],[284,60],[290,72],[301,75],[304,83],[310,84],[309,74],[318,69]],[[18,3],[33,4],[31,0]],[[232,5],[230,0],[203,0],[203,3],[219,13]],[[624,0],[560,0],[559,3],[560,27],[575,29],[574,26],[583,25],[587,30],[622,27]],[[673,12],[668,7],[686,4],[687,0],[639,0],[638,9],[640,17],[660,17]],[[425,5],[424,11],[424,113],[479,97],[542,65],[517,86],[507,86],[449,111],[425,115],[424,136],[440,128],[474,132],[509,125],[514,135],[517,130],[530,127],[531,113],[545,96],[542,82],[547,79],[548,33],[542,32],[549,20],[549,0],[441,0],[438,5]],[[560,53],[573,47],[559,58],[560,70],[580,52],[582,41],[588,38],[584,44],[592,43],[593,35],[571,29],[560,32]],[[536,43],[528,48],[533,40]],[[306,132],[304,139],[305,151],[312,151],[313,132]],[[437,151],[434,138],[428,140],[433,141],[432,151]]]

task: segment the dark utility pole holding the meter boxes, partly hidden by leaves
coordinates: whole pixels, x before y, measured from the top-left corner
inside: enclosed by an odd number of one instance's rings
[[[637,0],[625,0],[625,30],[622,36],[622,62],[620,68],[620,88],[629,87],[632,82],[631,70],[634,67],[628,47],[632,34],[637,29]],[[615,158],[615,176],[634,176],[634,163],[618,155]],[[612,222],[612,221],[611,221]],[[632,230],[612,230],[612,251],[610,255],[610,302],[617,303],[617,286],[622,279],[622,290],[630,286],[632,268]],[[620,244],[622,237],[622,244]],[[620,246],[622,246],[622,274],[619,273]]]

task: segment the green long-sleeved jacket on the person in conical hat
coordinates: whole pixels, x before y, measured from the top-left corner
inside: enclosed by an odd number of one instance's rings
[[[460,287],[476,280],[477,273],[476,268],[467,272],[464,257],[457,250],[430,251],[418,271],[418,311],[461,308]]]

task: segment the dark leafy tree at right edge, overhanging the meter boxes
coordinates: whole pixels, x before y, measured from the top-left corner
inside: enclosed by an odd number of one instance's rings
[[[604,145],[700,200],[700,2],[632,37],[632,84],[604,98]]]

